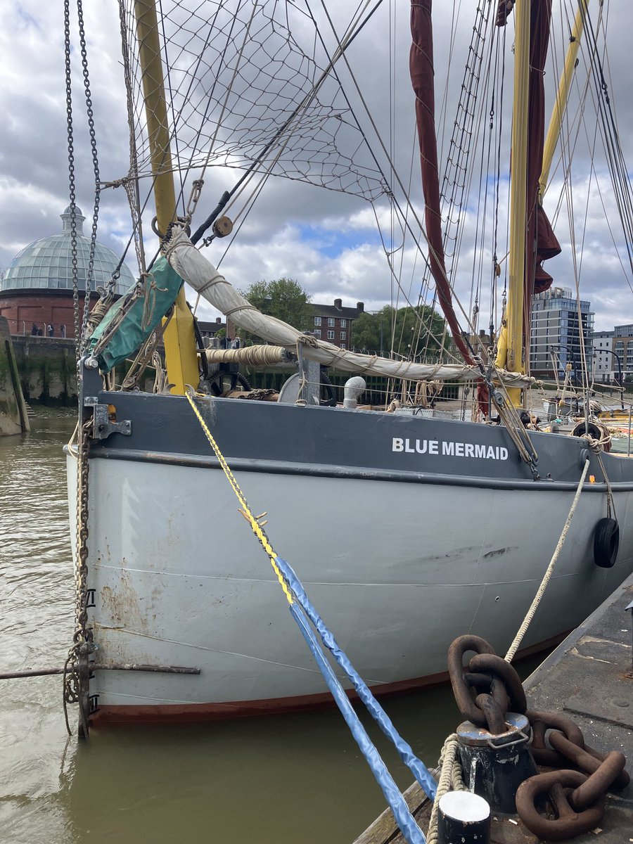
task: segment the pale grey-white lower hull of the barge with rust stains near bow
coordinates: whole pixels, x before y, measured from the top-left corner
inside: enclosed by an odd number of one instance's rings
[[[326,692],[224,473],[111,458],[91,459],[89,477],[98,661],[201,669],[100,671],[90,694],[102,713],[169,717],[191,707],[221,716],[300,706]],[[542,488],[237,477],[252,510],[268,511],[274,549],[371,685],[444,673],[448,645],[468,632],[505,653],[573,498],[573,490]],[[603,495],[581,495],[523,647],[576,626],[630,572],[631,495],[616,493],[621,541],[612,569],[592,558]]]

